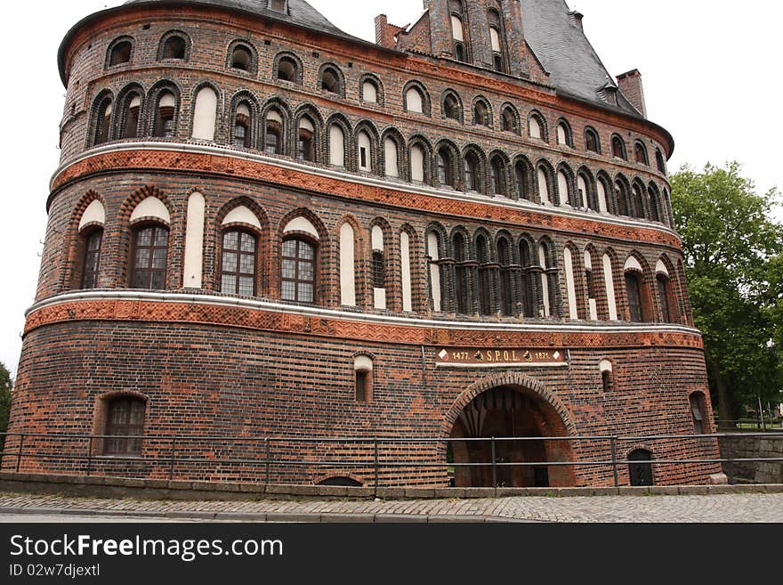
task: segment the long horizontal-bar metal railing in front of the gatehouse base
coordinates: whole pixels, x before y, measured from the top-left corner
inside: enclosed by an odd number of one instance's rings
[[[238,468],[243,473],[234,475],[248,477],[254,483],[310,483],[296,477],[303,477],[296,469],[339,470],[359,472],[372,477],[377,490],[383,481],[389,479],[399,485],[394,470],[408,475],[439,470],[442,478],[448,478],[451,470],[465,468],[489,469],[491,484],[500,487],[500,472],[514,468],[584,467],[606,474],[616,487],[620,484],[620,469],[632,465],[660,466],[717,466],[738,463],[781,463],[783,457],[767,458],[723,458],[720,455],[719,439],[763,437],[783,440],[783,433],[734,433],[714,435],[585,435],[565,437],[488,437],[488,438],[410,438],[410,437],[247,437],[247,436],[202,436],[202,435],[69,435],[36,433],[2,433],[4,449],[0,451],[0,470],[40,471],[68,475],[101,475],[107,477],[133,477],[141,475],[149,479],[183,479],[198,481],[202,476],[220,475],[221,479],[204,481],[229,481],[227,469]],[[140,453],[105,454],[103,442],[141,441]],[[557,449],[567,443],[567,452],[583,453],[583,457],[564,460],[505,460],[500,456],[502,447],[514,443],[538,442],[547,448]],[[488,460],[447,460],[448,446],[453,448],[463,443],[484,445]],[[577,443],[579,450],[573,447]],[[659,451],[697,451],[696,457],[666,457],[664,459],[629,459],[631,451],[642,449],[652,451],[654,443],[666,443]],[[416,445],[423,446],[416,448]],[[622,446],[622,450],[620,447]],[[488,450],[486,448],[488,447]],[[199,455],[199,451],[201,454]],[[223,456],[222,451],[227,451]],[[334,451],[334,452],[331,452]],[[508,451],[508,450],[505,450]],[[619,452],[626,452],[619,456]],[[700,455],[699,455],[700,453]],[[327,457],[331,455],[331,457]],[[9,460],[11,464],[9,465]],[[36,463],[37,462],[37,463]],[[44,462],[44,466],[40,465]],[[27,463],[27,465],[23,465]],[[125,466],[121,465],[125,464]],[[627,469],[627,467],[625,467]],[[190,471],[187,471],[190,469]],[[198,471],[193,471],[193,470]],[[216,474],[210,469],[220,469]],[[445,472],[445,473],[444,473]],[[286,479],[288,475],[288,480]],[[349,474],[350,475],[350,474]],[[312,473],[308,474],[311,479]],[[389,482],[387,482],[389,483]]]

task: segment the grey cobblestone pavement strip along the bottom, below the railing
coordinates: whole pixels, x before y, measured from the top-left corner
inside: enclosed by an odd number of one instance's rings
[[[0,493],[0,522],[69,513],[164,517],[187,514],[405,515],[505,518],[533,522],[774,522],[783,523],[783,493],[684,496],[505,498],[499,500],[99,500]]]

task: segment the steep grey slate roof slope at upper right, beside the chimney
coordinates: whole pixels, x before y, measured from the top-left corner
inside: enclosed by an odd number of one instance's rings
[[[565,0],[525,0],[522,21],[525,39],[550,73],[550,83],[561,93],[600,103],[607,83],[617,86],[593,45],[571,16]],[[641,114],[618,91],[618,106],[626,114]]]

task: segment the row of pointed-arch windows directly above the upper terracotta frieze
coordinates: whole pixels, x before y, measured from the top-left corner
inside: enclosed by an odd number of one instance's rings
[[[199,87],[190,113],[190,137],[215,142],[222,126],[218,90],[208,84]],[[128,85],[116,100],[108,91],[100,93],[93,102],[92,145],[144,136],[176,138],[177,120],[182,118],[179,96],[170,82],[159,82],[146,94],[141,85]],[[630,183],[624,175],[611,179],[586,167],[553,167],[545,159],[534,164],[523,154],[486,154],[478,145],[460,149],[441,141],[433,147],[424,136],[407,140],[394,128],[379,131],[369,120],[352,125],[339,114],[325,120],[316,108],[303,106],[294,112],[278,98],[262,105],[246,91],[234,95],[226,114],[226,142],[235,148],[457,191],[671,224],[668,198],[656,183],[645,184],[640,178]],[[568,140],[570,134],[565,135]]]

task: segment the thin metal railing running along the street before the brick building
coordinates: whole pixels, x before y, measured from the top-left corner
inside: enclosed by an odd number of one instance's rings
[[[202,435],[49,435],[4,433],[0,469],[6,472],[101,475],[185,481],[318,483],[344,476],[378,487],[454,483],[455,477],[479,472],[487,487],[508,486],[510,474],[528,469],[529,487],[549,487],[548,477],[579,469],[582,483],[665,485],[677,474],[718,473],[723,464],[783,464],[783,457],[727,459],[722,438],[783,441],[783,433],[717,435],[568,436],[491,438],[329,438]],[[110,442],[110,443],[109,443]],[[139,451],[107,454],[107,446]],[[544,460],[514,458],[529,445],[546,452]],[[472,451],[472,457],[458,457]],[[654,452],[666,454],[656,459]],[[477,459],[475,453],[485,453]],[[554,456],[551,456],[555,453]],[[578,453],[578,457],[575,455]],[[512,457],[509,456],[512,455]],[[570,457],[569,457],[570,455]],[[468,460],[465,460],[468,459]],[[477,459],[477,460],[475,460]],[[668,468],[663,481],[653,469]],[[690,469],[690,472],[682,472]],[[699,471],[696,471],[699,470]],[[542,473],[543,472],[543,473]],[[658,480],[658,481],[657,481]],[[513,482],[512,482],[513,483]],[[542,483],[542,485],[535,485]],[[562,483],[562,482],[560,482]],[[589,479],[587,480],[589,482]],[[682,483],[682,482],[680,482]],[[478,487],[473,485],[473,487]]]

